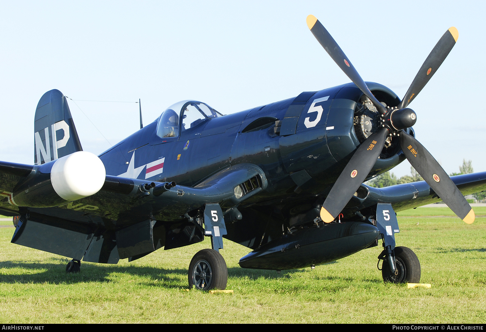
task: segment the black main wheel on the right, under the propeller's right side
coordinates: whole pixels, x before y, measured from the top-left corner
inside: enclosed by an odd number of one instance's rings
[[[383,281],[393,283],[420,282],[420,262],[415,252],[407,247],[395,247],[394,251],[398,275],[392,273],[388,260],[385,258],[382,265]]]

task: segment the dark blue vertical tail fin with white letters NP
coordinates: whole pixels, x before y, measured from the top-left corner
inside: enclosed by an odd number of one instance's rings
[[[66,97],[59,90],[46,92],[35,110],[35,165],[82,150]]]

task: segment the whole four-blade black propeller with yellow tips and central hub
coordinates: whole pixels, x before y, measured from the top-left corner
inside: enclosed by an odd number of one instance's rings
[[[432,52],[419,69],[417,76],[410,85],[405,97],[397,108],[385,108],[373,96],[358,71],[351,64],[346,54],[332,38],[329,32],[313,15],[307,17],[307,25],[314,37],[329,53],[334,62],[345,72],[347,77],[371,100],[381,114],[380,130],[370,135],[356,150],[346,167],[332,186],[330,193],[321,208],[321,218],[324,222],[331,222],[346,206],[353,194],[368,176],[376,160],[382,152],[387,135],[397,136],[400,147],[410,164],[418,174],[430,185],[440,199],[466,223],[474,221],[474,212],[461,194],[451,178],[437,163],[434,157],[413,136],[403,129],[413,126],[417,120],[416,113],[405,108],[417,97],[422,88],[429,82],[437,68],[447,57],[457,41],[459,33],[451,27],[440,38]]]

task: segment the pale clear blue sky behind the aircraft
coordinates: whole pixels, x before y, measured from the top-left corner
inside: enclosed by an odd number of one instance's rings
[[[484,2],[1,1],[0,160],[32,164],[46,91],[75,100],[141,99],[144,123],[179,100],[223,114],[349,82],[306,25],[317,17],[365,81],[401,98],[451,26],[459,39],[410,104],[417,139],[446,172],[486,170]],[[76,101],[111,144],[139,128],[138,104]],[[81,143],[110,144],[69,100]],[[410,172],[406,162],[393,170]]]

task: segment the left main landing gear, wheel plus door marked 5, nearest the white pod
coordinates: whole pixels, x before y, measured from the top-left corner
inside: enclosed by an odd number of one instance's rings
[[[228,282],[228,268],[219,249],[223,249],[226,226],[219,204],[206,204],[204,234],[211,237],[212,249],[202,249],[192,257],[188,271],[189,287],[194,286],[204,291],[225,289]]]

